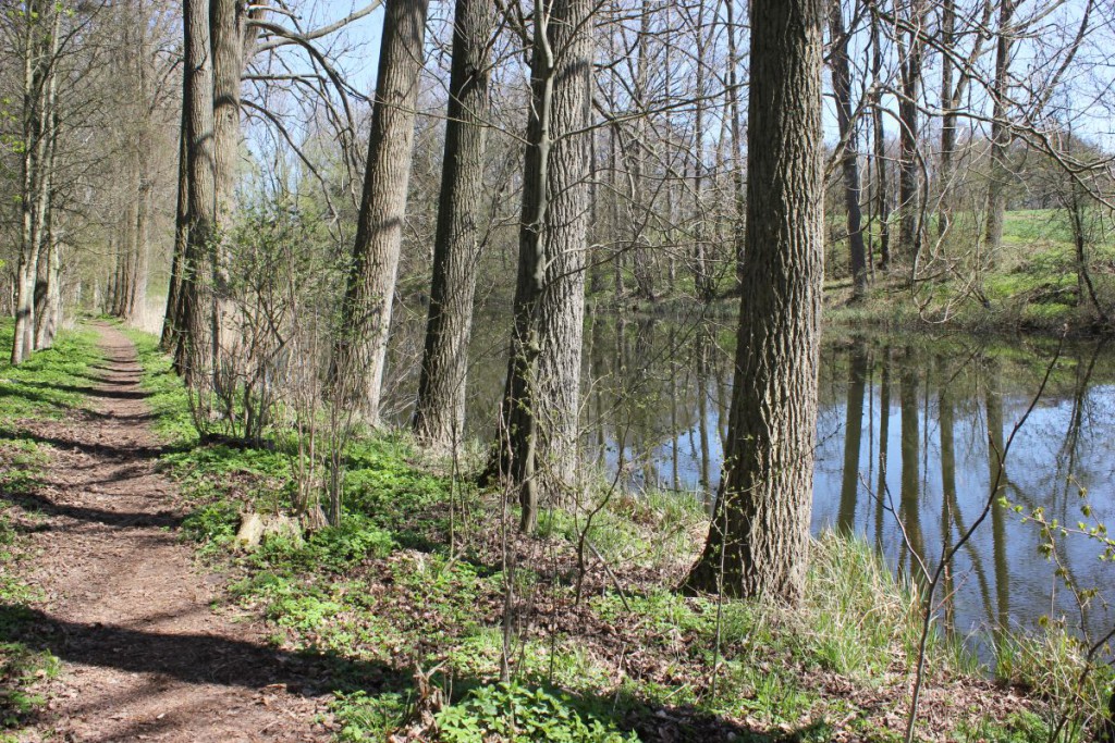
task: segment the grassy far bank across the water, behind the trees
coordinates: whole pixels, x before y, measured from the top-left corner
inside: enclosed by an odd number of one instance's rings
[[[908,261],[894,257],[885,270],[870,268],[867,292],[854,300],[846,244],[831,241],[826,245],[824,323],[837,331],[1073,338],[1115,332],[1115,241],[1109,235],[1085,236],[1083,274],[1076,237],[1061,211],[1008,212],[1002,245],[993,256],[981,255],[975,247],[980,239],[980,225],[971,215],[954,215],[950,234],[943,239],[934,234],[923,247],[915,276]],[[879,264],[878,233],[869,235],[869,243],[875,251],[873,263]],[[709,302],[698,301],[685,281],[663,287],[652,300],[630,294],[617,297],[607,287],[590,295],[589,302],[603,312],[730,321],[739,313],[731,281],[726,272],[716,299]]]

